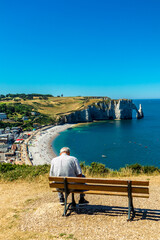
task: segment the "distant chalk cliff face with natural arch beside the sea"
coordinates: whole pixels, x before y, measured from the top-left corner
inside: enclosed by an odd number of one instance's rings
[[[137,115],[140,116],[132,100],[111,100],[109,103],[103,101],[88,106],[87,109],[65,115],[62,117],[61,121],[63,123],[79,123],[92,122],[94,120],[132,119],[133,109],[135,109]]]

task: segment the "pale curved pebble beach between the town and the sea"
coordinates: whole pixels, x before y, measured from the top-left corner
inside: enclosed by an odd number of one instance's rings
[[[32,164],[50,164],[52,158],[56,157],[56,154],[52,148],[53,140],[58,136],[60,132],[63,132],[73,126],[74,124],[64,124],[37,131],[37,133],[28,143],[28,152],[33,158]]]

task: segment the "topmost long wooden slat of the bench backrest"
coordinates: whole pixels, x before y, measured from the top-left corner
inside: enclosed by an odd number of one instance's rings
[[[49,181],[63,182],[64,177],[49,177]],[[77,178],[77,177],[67,177],[68,183],[97,183],[97,184],[117,184],[117,185],[127,185],[128,180],[117,180],[117,179],[103,179],[103,178]],[[149,181],[132,181],[132,186],[149,186]]]

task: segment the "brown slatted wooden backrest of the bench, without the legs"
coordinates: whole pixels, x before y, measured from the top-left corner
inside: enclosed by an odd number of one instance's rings
[[[128,196],[130,189],[133,197],[149,197],[149,181],[79,177],[49,177],[49,181],[51,188],[61,191]]]

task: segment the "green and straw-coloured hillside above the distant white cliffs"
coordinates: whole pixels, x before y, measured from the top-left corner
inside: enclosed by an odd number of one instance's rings
[[[0,128],[22,126],[31,130],[34,125],[49,125],[59,122],[62,115],[86,109],[89,105],[103,101],[94,97],[53,97],[40,94],[0,95],[0,112],[7,114],[8,120],[0,121]],[[110,98],[105,99],[106,102]],[[36,112],[33,115],[32,112]],[[27,121],[22,118],[28,117]]]

